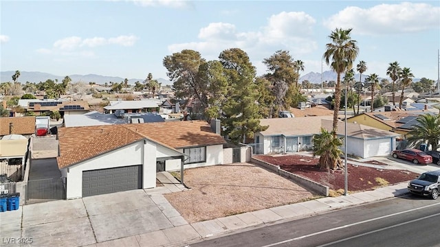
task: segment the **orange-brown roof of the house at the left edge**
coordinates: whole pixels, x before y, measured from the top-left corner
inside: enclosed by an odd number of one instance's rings
[[[35,117],[0,117],[0,137],[22,134],[28,138],[34,133]]]

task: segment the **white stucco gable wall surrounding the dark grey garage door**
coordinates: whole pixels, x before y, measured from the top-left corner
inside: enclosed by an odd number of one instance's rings
[[[107,154],[91,158],[83,163],[61,170],[67,180],[67,199],[81,198],[83,191],[83,171],[142,165],[142,187],[153,188],[156,183],[156,144],[138,141]]]

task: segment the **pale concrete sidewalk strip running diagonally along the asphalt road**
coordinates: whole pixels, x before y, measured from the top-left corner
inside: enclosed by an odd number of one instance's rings
[[[178,182],[177,180],[173,183]],[[307,202],[299,202],[271,209],[262,209],[238,215],[230,215],[204,222],[181,224],[173,228],[166,228],[143,235],[122,237],[107,242],[100,242],[89,246],[185,246],[186,244],[202,241],[207,237],[217,237],[234,231],[246,231],[247,228],[263,227],[278,224],[288,220],[309,217],[326,211],[351,207],[368,202],[393,198],[408,193],[406,185],[399,183],[388,187],[382,187],[374,191],[353,193],[348,196],[337,198],[320,198]],[[149,193],[146,190],[146,193]],[[153,193],[157,193],[154,191]],[[146,239],[148,242],[145,242]]]

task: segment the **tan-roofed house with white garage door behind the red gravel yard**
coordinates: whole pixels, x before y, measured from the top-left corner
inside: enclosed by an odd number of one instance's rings
[[[267,130],[255,134],[256,153],[268,154],[300,152],[313,148],[314,134],[320,134],[321,128],[331,130],[331,116],[325,117],[294,117],[278,119],[261,119],[262,126]],[[344,122],[338,124],[338,136],[344,136]],[[393,132],[347,123],[348,154],[368,158],[389,154],[395,150],[396,137]],[[341,147],[344,150],[344,147]]]

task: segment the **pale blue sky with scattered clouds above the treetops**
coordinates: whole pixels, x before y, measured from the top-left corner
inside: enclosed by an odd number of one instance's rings
[[[440,1],[1,1],[1,71],[165,78],[165,56],[194,49],[206,60],[239,47],[257,74],[287,50],[305,73],[321,71],[336,27],[353,28],[366,74],[398,61],[437,80]],[[324,64],[323,70],[329,70]]]

